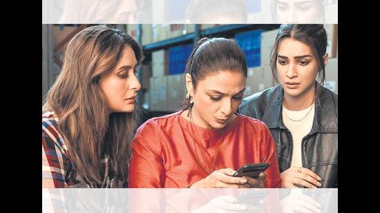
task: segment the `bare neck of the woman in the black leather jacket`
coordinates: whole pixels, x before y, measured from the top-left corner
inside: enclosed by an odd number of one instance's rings
[[[315,87],[311,88],[308,92],[300,94],[296,97],[289,94],[284,94],[283,104],[285,108],[292,111],[305,110],[314,103]]]

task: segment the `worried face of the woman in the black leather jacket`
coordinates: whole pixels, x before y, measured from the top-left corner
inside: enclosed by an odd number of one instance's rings
[[[276,68],[285,97],[314,94],[319,66],[308,45],[294,39],[283,39],[278,45]]]

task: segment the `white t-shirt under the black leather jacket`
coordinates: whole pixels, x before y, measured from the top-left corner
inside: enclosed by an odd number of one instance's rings
[[[293,154],[290,166],[302,167],[301,142],[310,130],[312,130],[314,119],[314,103],[305,110],[287,110],[283,105],[283,122],[292,133]],[[293,120],[293,121],[292,121]]]

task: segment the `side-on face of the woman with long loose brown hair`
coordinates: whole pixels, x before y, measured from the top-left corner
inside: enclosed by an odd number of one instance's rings
[[[99,81],[111,112],[133,112],[135,98],[141,85],[135,76],[136,57],[129,45],[124,47],[122,57],[115,68]]]

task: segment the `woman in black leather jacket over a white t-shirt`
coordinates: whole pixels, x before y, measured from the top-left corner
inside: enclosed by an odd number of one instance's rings
[[[240,105],[272,132],[283,187],[338,187],[338,95],[316,81],[325,80],[326,48],[323,25],[282,25],[271,53],[279,84]]]

